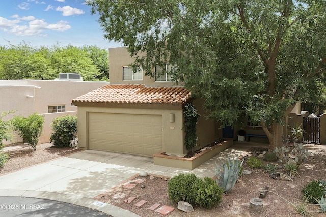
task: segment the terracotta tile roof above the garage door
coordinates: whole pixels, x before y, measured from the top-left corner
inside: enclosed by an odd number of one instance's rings
[[[107,85],[77,97],[72,102],[185,103],[191,92],[182,87],[145,87],[143,84]]]

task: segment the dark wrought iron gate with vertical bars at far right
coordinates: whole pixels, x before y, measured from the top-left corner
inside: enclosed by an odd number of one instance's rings
[[[319,127],[319,117],[303,117],[302,129],[305,131],[303,133],[303,142],[320,143]]]

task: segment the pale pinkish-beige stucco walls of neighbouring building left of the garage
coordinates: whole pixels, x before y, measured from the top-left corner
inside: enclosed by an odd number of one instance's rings
[[[66,112],[77,111],[77,106],[71,105],[72,99],[87,92],[108,85],[108,82],[88,81],[49,81],[49,80],[0,80],[0,112],[15,110],[5,119],[13,115],[27,117],[37,112],[48,113],[48,106],[65,105]],[[62,116],[61,113],[51,113],[50,117]],[[52,118],[53,119],[53,118]],[[49,124],[48,124],[49,123]],[[48,142],[51,121],[44,123],[43,136],[39,143]],[[4,144],[21,142],[22,139],[14,133],[14,141],[4,141]]]

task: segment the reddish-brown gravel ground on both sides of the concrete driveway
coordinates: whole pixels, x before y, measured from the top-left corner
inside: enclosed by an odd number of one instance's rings
[[[108,191],[100,199],[103,202],[111,203],[121,208],[130,210],[140,216],[161,216],[160,214],[150,211],[147,208],[154,203],[168,205],[175,210],[168,216],[252,216],[249,213],[249,200],[258,198],[259,192],[265,185],[268,185],[269,190],[267,196],[262,199],[264,211],[261,216],[302,216],[295,210],[295,206],[302,204],[301,188],[310,182],[312,179],[318,180],[326,178],[326,146],[323,145],[306,145],[309,151],[312,151],[312,156],[308,161],[303,163],[298,170],[298,176],[293,181],[275,180],[269,177],[268,173],[264,173],[261,169],[251,169],[248,166],[247,170],[252,173],[242,175],[235,187],[228,193],[222,196],[222,202],[210,209],[194,207],[192,213],[185,213],[177,209],[177,204],[172,203],[168,198],[167,180],[160,177],[155,177],[153,180],[146,178],[145,188],[139,186],[133,189],[116,189],[114,192]],[[14,172],[25,167],[30,167],[39,163],[47,162],[52,159],[60,158],[71,153],[80,151],[78,148],[53,148],[51,144],[41,144],[34,151],[30,147],[20,148],[8,152],[10,160],[0,168],[0,175]],[[248,156],[252,153],[248,152]],[[264,162],[267,163],[267,162]],[[275,162],[273,162],[275,163]],[[246,165],[246,164],[245,164]],[[285,172],[281,171],[280,172]],[[153,175],[154,176],[154,175]],[[140,178],[140,177],[138,177]],[[92,184],[90,182],[90,184]],[[125,196],[120,199],[113,199],[112,196],[117,193],[123,193]],[[125,203],[123,200],[134,196],[135,201],[148,200],[149,202],[143,207],[134,206],[134,203]],[[308,216],[326,216],[325,213],[318,212],[318,206],[308,205]]]

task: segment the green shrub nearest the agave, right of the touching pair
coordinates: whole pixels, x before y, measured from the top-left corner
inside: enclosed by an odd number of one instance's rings
[[[205,177],[199,184],[196,204],[206,209],[211,209],[222,200],[223,189],[212,178]]]

